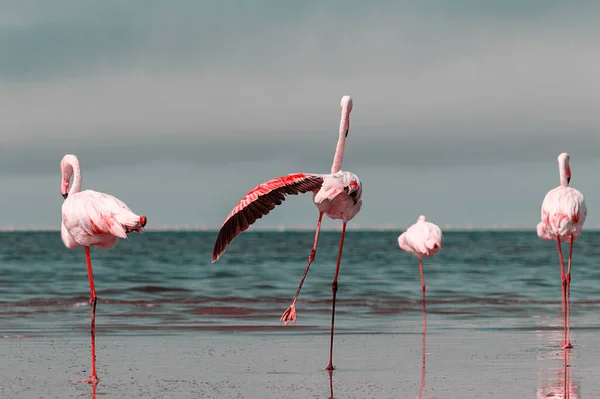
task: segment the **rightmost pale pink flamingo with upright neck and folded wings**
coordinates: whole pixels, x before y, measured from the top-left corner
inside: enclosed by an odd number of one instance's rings
[[[556,241],[562,280],[562,305],[564,316],[563,348],[571,344],[571,258],[573,243],[581,236],[581,229],[587,217],[587,206],[583,194],[569,187],[571,182],[571,156],[566,152],[558,156],[560,185],[548,191],[542,202],[542,220],[537,225],[537,235],[542,240]],[[568,268],[565,273],[561,242],[569,242]]]

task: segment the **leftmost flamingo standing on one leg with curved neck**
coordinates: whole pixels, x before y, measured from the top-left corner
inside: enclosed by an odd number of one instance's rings
[[[83,246],[90,280],[90,307],[92,312],[90,332],[92,336],[92,376],[87,382],[98,383],[96,374],[96,289],[92,275],[90,246],[110,249],[118,238],[127,238],[127,233],[142,232],[146,217],[133,213],[127,205],[112,195],[97,191],[81,191],[81,168],[75,155],[67,154],[60,161],[62,182],[60,191],[65,199],[62,205],[60,234],[69,249]],[[73,184],[69,189],[73,177]]]

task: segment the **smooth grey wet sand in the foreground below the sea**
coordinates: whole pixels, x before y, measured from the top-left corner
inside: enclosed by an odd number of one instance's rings
[[[431,323],[429,323],[431,325]],[[595,329],[452,329],[336,336],[335,398],[593,398]],[[99,334],[97,398],[329,398],[326,330]],[[425,344],[425,353],[423,352]],[[0,339],[0,397],[89,398],[85,335]],[[425,356],[424,356],[425,355]],[[424,361],[425,360],[425,361]],[[563,394],[565,385],[570,396]],[[554,394],[556,396],[551,396]]]

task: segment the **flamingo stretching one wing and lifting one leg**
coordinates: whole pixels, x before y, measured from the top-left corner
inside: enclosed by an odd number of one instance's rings
[[[342,233],[340,238],[340,247],[338,251],[337,263],[333,283],[331,285],[333,304],[331,310],[331,340],[329,347],[329,364],[326,370],[334,370],[333,367],[333,334],[335,321],[335,302],[338,291],[338,275],[340,271],[340,261],[342,248],[344,246],[344,237],[346,234],[346,225],[352,220],[362,207],[362,184],[354,173],[341,170],[344,148],[348,132],[350,130],[350,112],[352,111],[352,98],[350,96],[342,97],[340,107],[342,109],[339,137],[336,146],[331,172],[329,174],[313,173],[293,173],[286,176],[271,179],[265,183],[259,184],[244,196],[227,216],[215,242],[212,253],[212,262],[216,262],[227,246],[240,233],[248,229],[256,220],[267,215],[275,209],[275,206],[281,205],[286,195],[297,195],[299,193],[313,194],[313,203],[319,211],[317,229],[313,241],[312,250],[308,256],[308,263],[300,285],[296,291],[296,296],[290,307],[283,313],[280,321],[287,326],[290,321],[296,323],[296,301],[300,295],[302,284],[308,273],[308,269],[315,258],[317,242],[319,240],[319,231],[321,229],[321,220],[323,215],[331,219],[342,221]]]

